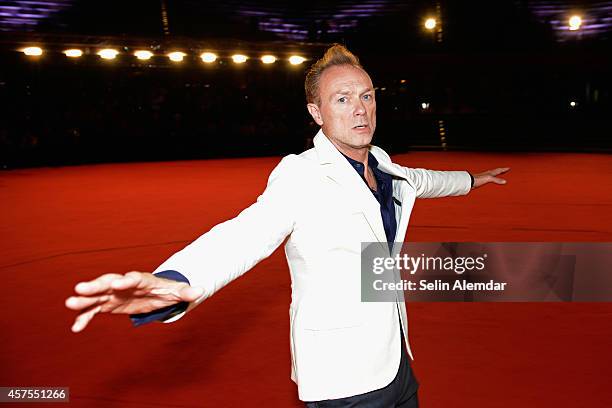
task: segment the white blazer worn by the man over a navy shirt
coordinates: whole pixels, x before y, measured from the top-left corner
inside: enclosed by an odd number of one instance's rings
[[[415,198],[470,191],[467,172],[406,168],[392,163],[378,147],[370,151],[378,168],[394,177],[396,242],[404,239]],[[179,271],[192,286],[204,288],[189,312],[287,237],[291,378],[299,398],[342,398],[388,385],[399,367],[400,320],[412,353],[404,302],[361,302],[361,243],[387,242],[380,206],[322,131],[314,138],[314,148],[281,160],[256,203],[172,255],[156,271]]]

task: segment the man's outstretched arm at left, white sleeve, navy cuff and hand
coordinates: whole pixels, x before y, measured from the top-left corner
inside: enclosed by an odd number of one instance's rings
[[[72,331],[83,330],[100,312],[137,315],[131,316],[136,325],[146,323],[150,316],[142,314],[152,311],[159,315],[153,320],[179,319],[269,256],[291,233],[295,209],[303,201],[305,174],[297,156],[285,157],[257,202],[172,255],[154,274],[106,274],[77,284],[76,293],[66,300],[66,307],[79,312]],[[183,281],[156,276],[169,271]],[[186,307],[172,307],[180,303]]]

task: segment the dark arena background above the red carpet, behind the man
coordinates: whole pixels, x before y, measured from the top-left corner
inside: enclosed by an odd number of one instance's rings
[[[428,15],[441,30],[422,28]],[[302,151],[317,130],[304,73],[332,42],[370,72],[375,143],[391,153],[609,151],[611,27],[612,2],[593,1],[1,1],[0,163]],[[26,57],[27,45],[45,54]],[[68,59],[69,46],[86,54]],[[105,46],[122,54],[102,61]],[[136,48],[156,57],[139,62]],[[175,48],[183,63],[164,57]],[[212,66],[205,49],[220,56]],[[251,59],[234,66],[235,51]],[[263,52],[309,61],[264,66]]]

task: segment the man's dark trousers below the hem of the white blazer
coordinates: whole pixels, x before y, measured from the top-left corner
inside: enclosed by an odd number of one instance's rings
[[[391,384],[380,390],[333,400],[306,402],[308,408],[418,408],[417,382],[402,335],[402,357],[399,370]]]

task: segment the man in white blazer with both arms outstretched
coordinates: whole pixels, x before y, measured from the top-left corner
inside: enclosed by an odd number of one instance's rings
[[[466,194],[508,169],[409,169],[370,145],[372,81],[346,48],[327,50],[306,76],[314,148],[272,171],[257,202],[177,252],[154,272],[108,274],[75,287],[66,306],[81,331],[99,312],[136,324],[174,321],[269,256],[285,239],[292,279],[292,378],[307,406],[416,407],[403,302],[361,302],[361,242],[402,241],[416,197]]]

